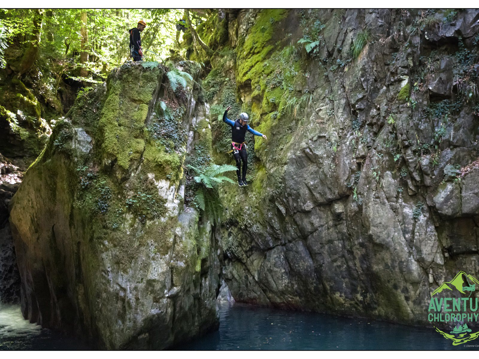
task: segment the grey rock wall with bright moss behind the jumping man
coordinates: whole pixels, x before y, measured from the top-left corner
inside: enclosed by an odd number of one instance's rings
[[[251,185],[221,192],[232,296],[425,322],[433,289],[479,266],[479,12],[226,19],[203,82],[212,112],[240,99],[230,118],[249,112],[268,136],[250,152]],[[213,143],[230,163],[225,127],[212,123]]]

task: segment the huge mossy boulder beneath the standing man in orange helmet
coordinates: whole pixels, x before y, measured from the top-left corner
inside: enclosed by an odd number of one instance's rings
[[[217,326],[217,245],[183,208],[187,145],[210,131],[196,97],[171,91],[158,63],[124,65],[57,123],[11,206],[26,318],[109,349]]]

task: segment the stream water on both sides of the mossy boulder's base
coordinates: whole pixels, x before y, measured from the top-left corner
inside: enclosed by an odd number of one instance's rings
[[[221,303],[219,330],[177,350],[455,350],[433,328]],[[467,343],[476,344],[475,341]],[[479,339],[478,343],[479,344]],[[91,349],[24,320],[19,305],[0,304],[0,350]]]

